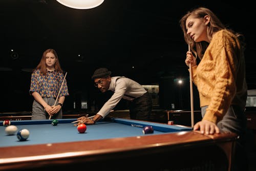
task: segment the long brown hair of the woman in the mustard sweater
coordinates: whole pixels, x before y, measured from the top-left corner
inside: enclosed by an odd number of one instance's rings
[[[212,35],[219,30],[226,29],[234,33],[232,30],[225,28],[225,26],[222,24],[220,19],[209,9],[207,8],[196,8],[191,11],[188,11],[181,19],[180,19],[180,26],[184,34],[184,39],[187,44],[190,45],[191,51],[195,54],[195,56],[198,56],[200,59],[202,59],[203,54],[208,47],[208,42],[206,41],[200,41],[200,42],[195,42],[193,39],[189,37],[187,34],[187,29],[186,29],[186,20],[188,16],[193,15],[197,18],[204,18],[205,15],[208,15],[210,17],[210,22],[207,27],[207,35],[209,38],[212,38]],[[236,36],[241,40],[240,37],[243,36],[242,34],[239,33],[234,33]],[[241,41],[242,45],[244,45],[244,42]]]

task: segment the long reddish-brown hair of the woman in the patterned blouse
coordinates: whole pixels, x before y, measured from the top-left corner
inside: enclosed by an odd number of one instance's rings
[[[63,70],[60,67],[57,52],[54,49],[47,49],[42,54],[42,58],[41,58],[39,64],[37,65],[37,67],[35,68],[35,70],[39,69],[41,74],[46,75],[46,72],[47,72],[47,69],[46,69],[46,54],[49,53],[49,52],[53,53],[54,56],[56,57],[56,62],[54,64],[55,71],[63,73]]]

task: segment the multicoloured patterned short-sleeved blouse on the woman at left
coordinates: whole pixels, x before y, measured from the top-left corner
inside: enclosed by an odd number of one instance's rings
[[[31,75],[31,83],[29,93],[37,92],[44,97],[57,97],[61,87],[64,75],[61,72],[47,71],[47,75],[40,74],[40,70],[35,70]],[[63,82],[63,86],[59,93],[59,97],[68,96],[67,80]]]

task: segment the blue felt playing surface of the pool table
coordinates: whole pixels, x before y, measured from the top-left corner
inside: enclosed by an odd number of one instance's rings
[[[1,126],[0,147],[153,135],[144,135],[142,132],[143,125],[152,125],[154,128],[154,135],[165,134],[166,128],[169,129],[169,132],[186,131],[181,130],[182,128],[179,126],[177,127],[174,125],[143,121],[131,122],[127,119],[115,119],[115,122],[100,121],[94,125],[87,125],[86,133],[80,134],[77,131],[77,126],[74,126],[74,123],[71,123],[74,120],[76,119],[59,119],[59,123],[56,126],[51,125],[51,120],[12,121],[12,124],[16,125],[18,130],[29,130],[30,136],[26,141],[19,141],[16,135],[7,135],[5,133],[6,127]],[[135,124],[136,126],[132,124]],[[159,127],[165,131],[163,132],[161,129],[159,130]]]

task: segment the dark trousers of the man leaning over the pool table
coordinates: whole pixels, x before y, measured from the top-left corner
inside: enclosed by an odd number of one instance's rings
[[[130,118],[136,120],[150,120],[152,112],[152,98],[148,92],[130,101]]]

